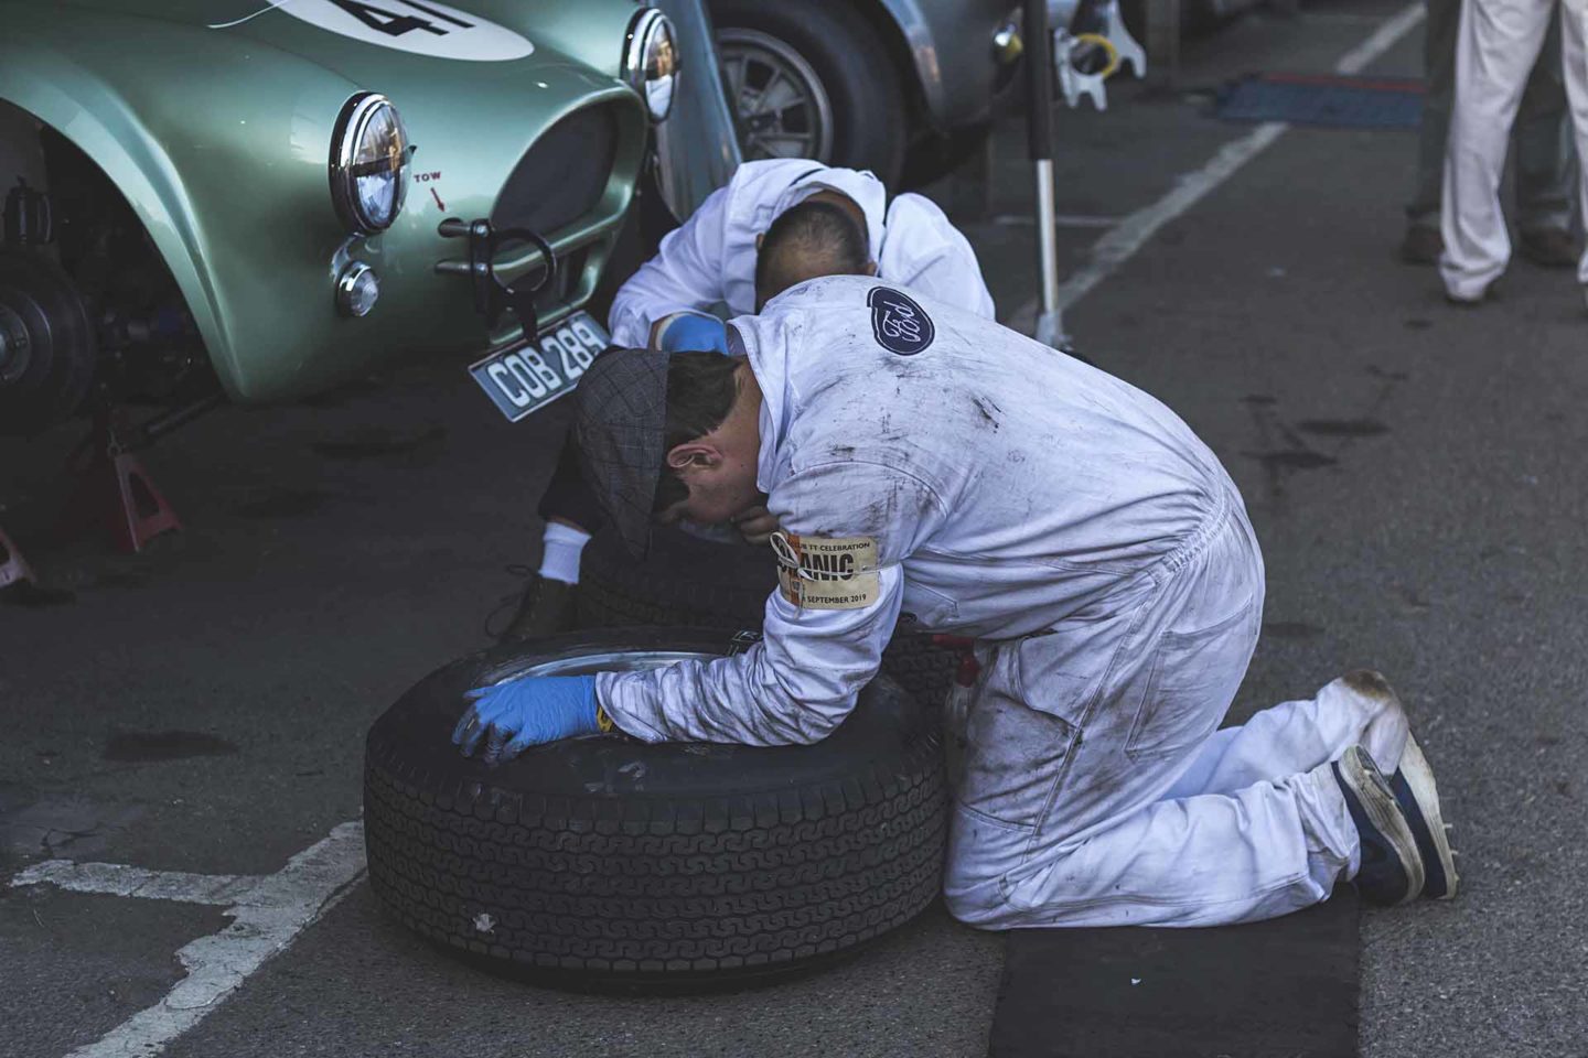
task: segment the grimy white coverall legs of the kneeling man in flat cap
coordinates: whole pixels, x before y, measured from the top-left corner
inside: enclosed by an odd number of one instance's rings
[[[1393,771],[1405,719],[1339,679],[1216,730],[1262,620],[1240,500],[1118,622],[978,647],[954,766],[945,898],[1016,926],[1208,926],[1270,918],[1351,877],[1359,842],[1328,763]]]

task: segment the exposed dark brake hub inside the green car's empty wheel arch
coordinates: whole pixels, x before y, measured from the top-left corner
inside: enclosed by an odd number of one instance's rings
[[[0,251],[0,435],[71,416],[94,385],[94,328],[71,278],[43,254]]]

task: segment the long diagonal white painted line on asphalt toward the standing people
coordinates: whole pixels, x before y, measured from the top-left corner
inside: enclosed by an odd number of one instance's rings
[[[1423,17],[1421,0],[1407,5],[1374,30],[1367,40],[1348,51],[1334,65],[1334,71],[1340,75],[1361,73],[1370,62],[1383,56],[1396,43],[1399,43],[1402,36],[1410,33],[1423,21]],[[1059,284],[1059,311],[1067,311],[1072,305],[1086,297],[1099,282],[1118,271],[1124,262],[1135,257],[1137,251],[1140,251],[1148,240],[1158,235],[1166,224],[1183,214],[1220,184],[1239,173],[1247,162],[1262,154],[1262,151],[1283,136],[1288,128],[1289,124],[1280,121],[1270,121],[1258,125],[1240,140],[1226,143],[1202,168],[1183,174],[1175,182],[1174,190],[1167,195],[1124,217],[1118,227],[1097,240],[1093,246],[1086,266]],[[1037,309],[1037,300],[1032,298],[1026,305],[1015,309],[1008,319],[1012,324],[1027,319],[1035,320]]]

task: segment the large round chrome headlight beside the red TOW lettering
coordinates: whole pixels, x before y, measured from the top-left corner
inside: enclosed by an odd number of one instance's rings
[[[356,235],[384,232],[408,195],[408,133],[378,92],[348,100],[330,138],[330,200]]]

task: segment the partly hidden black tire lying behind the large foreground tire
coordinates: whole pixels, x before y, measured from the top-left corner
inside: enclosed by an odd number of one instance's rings
[[[580,628],[702,625],[761,630],[767,595],[777,587],[762,547],[721,544],[676,528],[651,533],[651,552],[635,562],[611,530],[584,546],[575,620]],[[883,673],[916,701],[937,706],[959,671],[961,652],[912,633],[900,619],[883,650]]]

